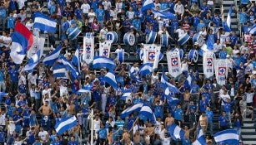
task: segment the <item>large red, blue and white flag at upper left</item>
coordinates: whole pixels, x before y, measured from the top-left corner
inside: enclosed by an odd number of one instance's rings
[[[10,56],[15,64],[21,64],[28,49],[33,45],[33,34],[22,23],[17,22],[12,40]]]

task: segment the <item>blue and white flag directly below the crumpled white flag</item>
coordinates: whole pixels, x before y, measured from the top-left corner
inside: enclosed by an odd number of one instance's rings
[[[33,68],[36,67],[36,65],[38,65],[38,62],[40,60],[40,56],[41,56],[41,51],[39,50],[36,54],[34,54],[28,60],[28,64],[23,67],[22,71],[33,70]]]

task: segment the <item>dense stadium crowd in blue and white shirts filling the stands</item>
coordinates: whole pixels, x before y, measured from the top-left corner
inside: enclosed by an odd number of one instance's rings
[[[240,7],[233,9],[240,16],[243,36],[228,29],[226,17],[221,18],[223,12],[214,10],[218,1],[213,0],[155,0],[157,10],[176,14],[177,18],[172,20],[154,15],[150,9],[141,12],[142,0],[1,1],[0,89],[8,94],[2,95],[0,144],[90,143],[88,136],[92,131],[89,115],[91,109],[94,111],[93,138],[96,144],[189,145],[196,139],[198,125],[203,129],[207,144],[214,143],[213,128],[218,128],[219,131],[234,128],[241,134],[243,118],[254,119],[256,40],[255,35],[248,33],[248,28],[254,25],[256,7],[255,3],[247,0],[240,2]],[[33,13],[43,12],[45,9],[48,16],[58,22],[60,35],[33,28]],[[169,82],[180,91],[173,94],[180,102],[170,104],[160,81],[161,70],[154,70],[152,75],[142,77],[142,83],[129,77],[130,68],[138,73],[141,62],[118,64],[114,70],[118,78],[118,89],[113,89],[102,81],[107,70],[103,68],[96,71],[91,65],[84,63],[75,80],[54,78],[53,68],[42,63],[31,72],[21,71],[25,62],[17,65],[9,55],[16,22],[22,22],[35,36],[47,34],[49,46],[57,47],[55,42],[60,41],[61,54],[68,60],[71,60],[78,44],[83,43],[79,36],[75,40],[68,39],[70,27],[78,27],[82,31],[80,36],[93,32],[95,48],[98,48],[98,41],[106,39],[108,31],[116,31],[118,48],[114,49],[126,51],[138,58],[138,61],[140,50],[143,49],[150,31],[168,35],[171,45],[163,47],[163,52],[180,47],[185,53],[198,46],[190,41],[188,46],[178,46],[178,38],[184,33],[191,37],[199,33],[205,40],[213,37],[213,51],[217,58],[228,58],[233,69],[228,70],[226,84],[218,85],[215,78],[205,79],[202,72],[198,72],[198,67],[203,66],[183,58],[183,65],[187,64],[184,66],[187,67],[187,72],[184,71],[178,78],[168,76]],[[128,31],[133,31],[136,36],[133,47],[123,46],[123,36]],[[45,53],[51,53],[52,49]],[[196,65],[196,69],[191,70],[191,65]],[[193,80],[191,85],[188,85],[188,75]],[[93,88],[89,92],[76,94],[83,86],[91,83]],[[131,98],[120,99],[123,90],[131,90]],[[146,117],[138,117],[138,113],[126,118],[120,117],[124,109],[138,103],[151,106],[157,118],[156,123],[149,122]],[[214,119],[215,114],[219,114],[217,120]],[[72,115],[78,118],[78,124],[67,132],[58,134],[53,128],[54,124],[61,118]],[[184,129],[182,140],[173,140],[168,134],[167,127],[172,123]],[[241,136],[239,138],[243,140]]]

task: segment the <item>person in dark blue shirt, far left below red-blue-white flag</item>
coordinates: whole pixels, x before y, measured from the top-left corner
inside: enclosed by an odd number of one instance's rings
[[[10,92],[13,94],[17,94],[18,91],[18,69],[16,68],[16,65],[12,65],[12,69],[9,70],[10,74]]]

